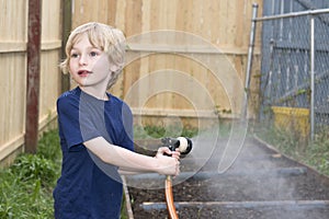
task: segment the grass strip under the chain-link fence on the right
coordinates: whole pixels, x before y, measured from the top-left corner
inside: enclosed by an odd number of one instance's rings
[[[258,136],[286,154],[329,176],[329,138],[327,132],[316,136],[313,142],[297,132],[274,127],[262,129]]]

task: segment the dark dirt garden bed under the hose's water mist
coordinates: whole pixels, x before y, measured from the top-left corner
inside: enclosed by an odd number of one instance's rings
[[[137,147],[137,150],[140,149]],[[193,165],[193,160],[185,159],[184,165]],[[180,218],[328,218],[327,177],[287,160],[254,139],[245,142],[234,165],[223,174],[216,173],[218,159],[214,151],[198,173],[173,186]],[[189,172],[186,166],[183,170]],[[146,176],[138,181],[151,185],[161,183],[163,178]],[[131,186],[128,192],[134,218],[168,218],[163,188]]]

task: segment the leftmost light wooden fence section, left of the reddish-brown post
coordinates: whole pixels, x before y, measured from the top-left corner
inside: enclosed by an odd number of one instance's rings
[[[0,149],[24,132],[27,1],[1,1]]]

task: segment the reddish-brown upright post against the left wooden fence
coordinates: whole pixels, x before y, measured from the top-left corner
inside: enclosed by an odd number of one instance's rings
[[[36,152],[41,70],[41,0],[29,0],[25,151]]]

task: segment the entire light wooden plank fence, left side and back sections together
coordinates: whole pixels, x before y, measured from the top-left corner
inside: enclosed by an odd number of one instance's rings
[[[0,161],[24,145],[27,2],[0,1]],[[90,21],[114,25],[127,36],[128,61],[112,92],[128,102],[136,117],[158,123],[159,116],[238,116],[253,2],[262,0],[42,1],[39,129],[56,118],[61,28]],[[71,23],[63,23],[70,15]],[[252,84],[258,88],[257,81]]]

